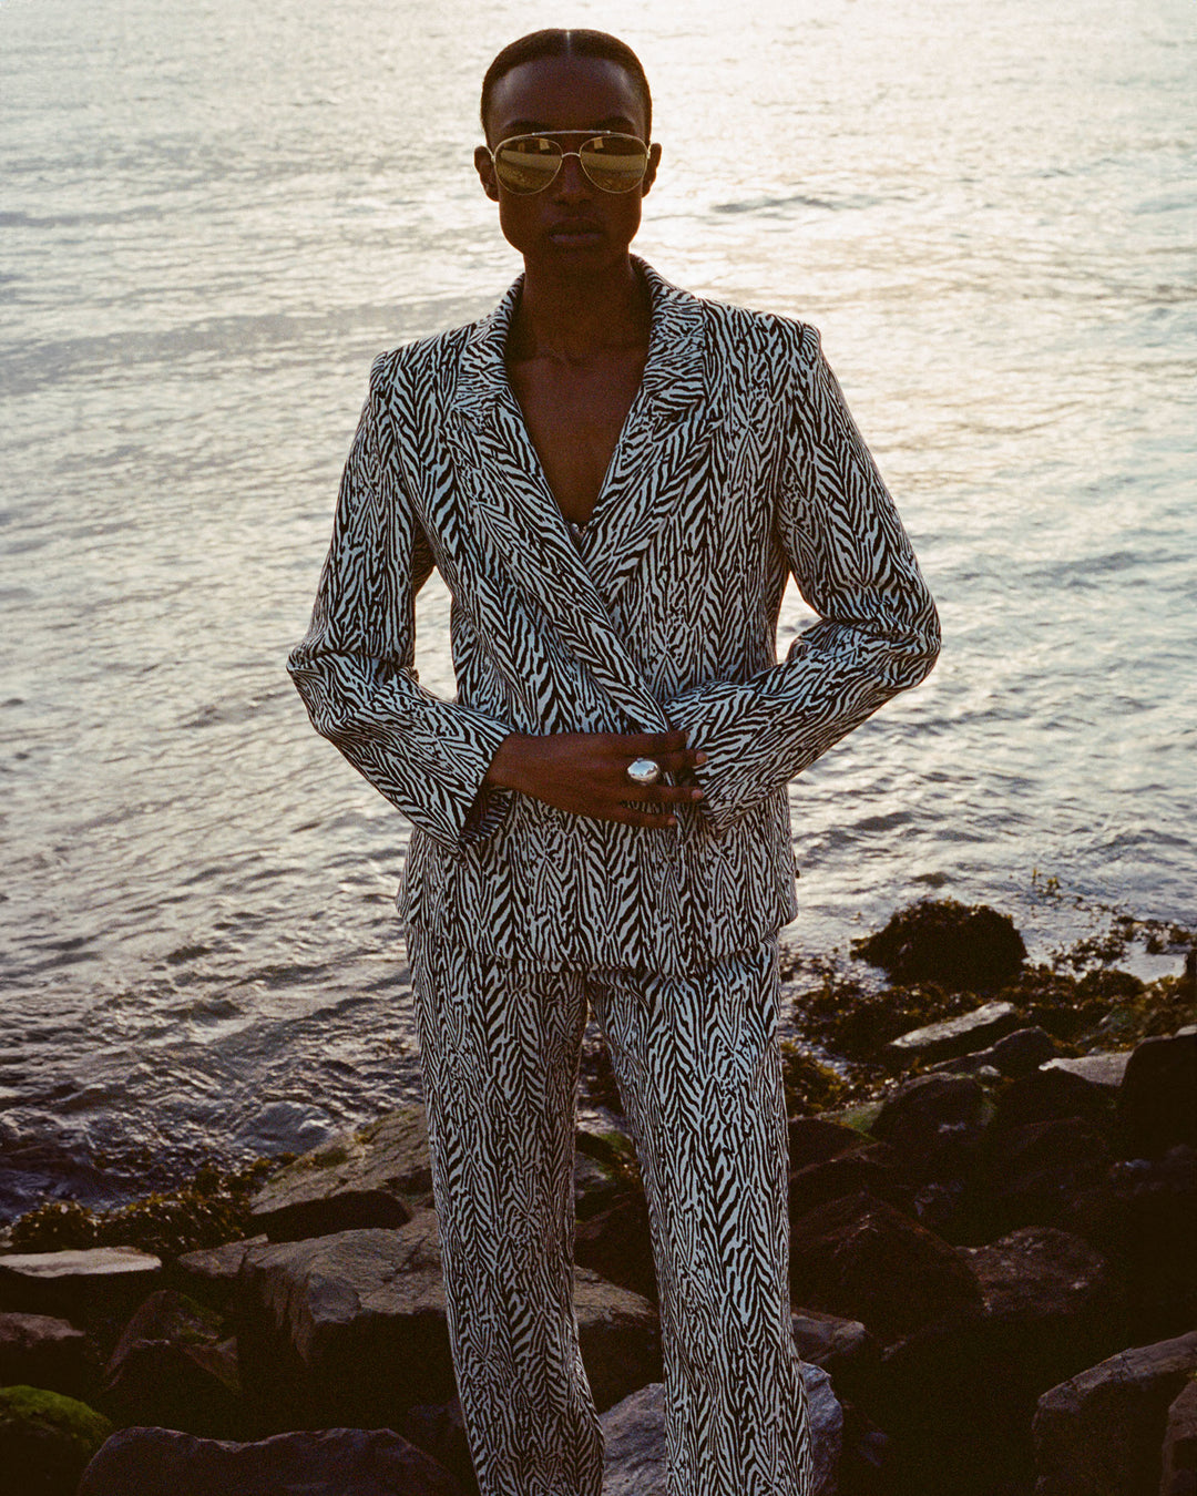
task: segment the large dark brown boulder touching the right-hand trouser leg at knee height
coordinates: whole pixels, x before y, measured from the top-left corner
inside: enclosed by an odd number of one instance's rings
[[[796,1303],[860,1319],[883,1340],[953,1310],[980,1309],[977,1279],[953,1248],[863,1194],[795,1222],[790,1282]]]

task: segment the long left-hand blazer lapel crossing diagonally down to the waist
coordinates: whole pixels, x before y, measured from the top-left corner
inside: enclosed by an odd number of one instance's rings
[[[640,730],[664,732],[669,721],[578,554],[507,381],[504,349],[521,286],[522,278],[476,325],[462,352],[446,413],[462,497],[507,573],[543,609],[575,658]]]

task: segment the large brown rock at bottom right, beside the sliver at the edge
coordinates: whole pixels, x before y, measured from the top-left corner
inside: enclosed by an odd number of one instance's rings
[[[1169,1408],[1197,1370],[1197,1331],[1109,1357],[1044,1393],[1035,1496],[1157,1496]]]

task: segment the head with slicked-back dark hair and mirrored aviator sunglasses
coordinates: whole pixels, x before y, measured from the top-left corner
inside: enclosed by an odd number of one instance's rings
[[[603,31],[534,31],[491,63],[474,165],[525,266],[625,260],[661,154],[651,111],[639,58]]]

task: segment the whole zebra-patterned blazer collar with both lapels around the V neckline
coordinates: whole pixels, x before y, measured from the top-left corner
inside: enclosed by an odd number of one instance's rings
[[[489,317],[474,323],[462,352],[446,431],[473,518],[513,580],[594,679],[645,732],[669,723],[628,655],[610,601],[672,513],[694,440],[679,429],[705,407],[702,302],[634,260],[651,296],[648,362],[594,518],[575,540],[549,491],[507,380],[504,353],[524,284],[521,277]],[[709,438],[706,438],[709,440]]]

